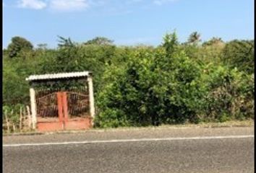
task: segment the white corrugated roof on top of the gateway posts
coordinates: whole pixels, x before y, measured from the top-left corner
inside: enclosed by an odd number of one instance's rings
[[[31,75],[28,78],[26,78],[26,81],[76,78],[76,77],[82,77],[82,76],[90,76],[91,74],[92,73],[90,71],[80,71],[80,72],[60,73],[60,74],[40,74],[40,75]]]

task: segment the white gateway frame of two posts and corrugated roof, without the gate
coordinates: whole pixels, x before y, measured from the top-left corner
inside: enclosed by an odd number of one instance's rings
[[[89,89],[89,104],[90,104],[90,116],[93,120],[95,117],[95,107],[94,107],[94,97],[93,97],[93,74],[90,71],[80,71],[80,72],[71,72],[71,73],[59,73],[59,74],[40,74],[40,75],[31,75],[26,78],[26,81],[36,82],[43,80],[54,80],[54,79],[70,79],[70,78],[81,78],[85,77],[88,82]],[[31,107],[31,115],[32,115],[32,128],[36,129],[37,123],[37,108],[36,108],[36,98],[35,98],[35,88],[30,84],[30,107]]]

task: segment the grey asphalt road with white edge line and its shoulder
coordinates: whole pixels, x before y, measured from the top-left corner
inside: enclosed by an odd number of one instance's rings
[[[4,136],[4,172],[254,172],[254,128]]]

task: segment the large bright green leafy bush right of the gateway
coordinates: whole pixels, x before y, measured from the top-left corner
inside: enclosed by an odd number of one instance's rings
[[[109,120],[114,111],[126,115],[126,125],[195,122],[199,76],[199,66],[183,51],[170,57],[163,48],[138,49],[124,66],[106,69],[103,80],[108,82],[98,93],[97,121]]]

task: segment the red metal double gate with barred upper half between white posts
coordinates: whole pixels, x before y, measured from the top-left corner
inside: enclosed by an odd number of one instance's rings
[[[39,131],[81,130],[91,127],[88,93],[53,92],[37,99]]]

